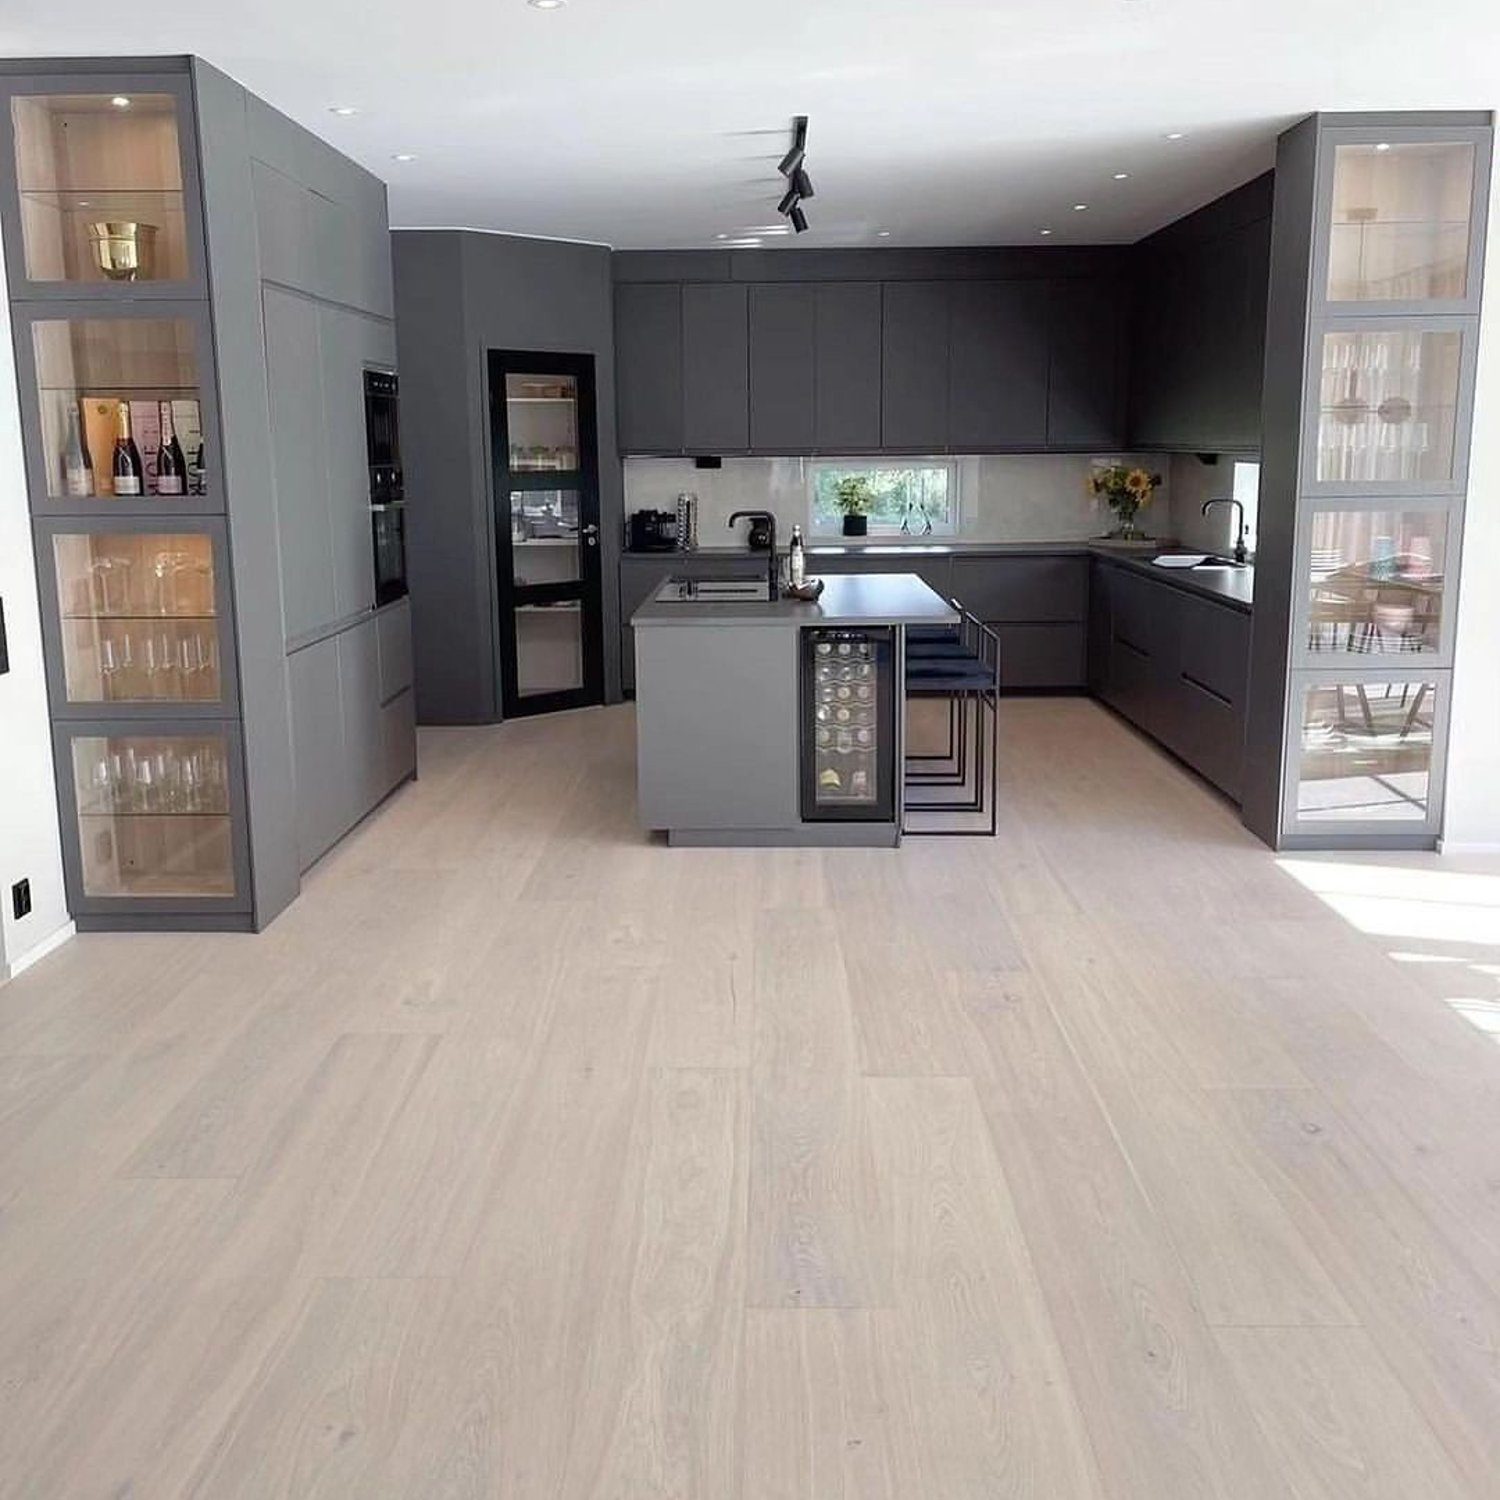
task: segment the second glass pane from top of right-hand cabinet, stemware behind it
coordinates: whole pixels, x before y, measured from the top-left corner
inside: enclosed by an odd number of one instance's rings
[[[1462,352],[1450,330],[1326,334],[1318,482],[1452,478]]]

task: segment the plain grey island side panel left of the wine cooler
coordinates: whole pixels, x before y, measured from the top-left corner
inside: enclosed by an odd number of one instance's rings
[[[796,828],[795,626],[639,626],[636,783],[646,828]]]

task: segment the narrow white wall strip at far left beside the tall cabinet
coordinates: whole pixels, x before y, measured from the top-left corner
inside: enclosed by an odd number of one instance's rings
[[[0,297],[0,598],[10,670],[0,676],[0,981],[70,932],[57,837],[57,795],[10,360],[10,308]],[[10,886],[32,882],[32,915],[10,915]]]

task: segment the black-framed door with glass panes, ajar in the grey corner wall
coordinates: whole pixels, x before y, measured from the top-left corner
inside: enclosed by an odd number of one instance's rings
[[[592,356],[490,350],[489,414],[504,716],[602,704]]]

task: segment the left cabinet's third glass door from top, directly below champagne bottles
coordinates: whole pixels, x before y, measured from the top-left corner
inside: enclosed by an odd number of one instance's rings
[[[232,704],[216,532],[54,531],[50,542],[63,702]]]

